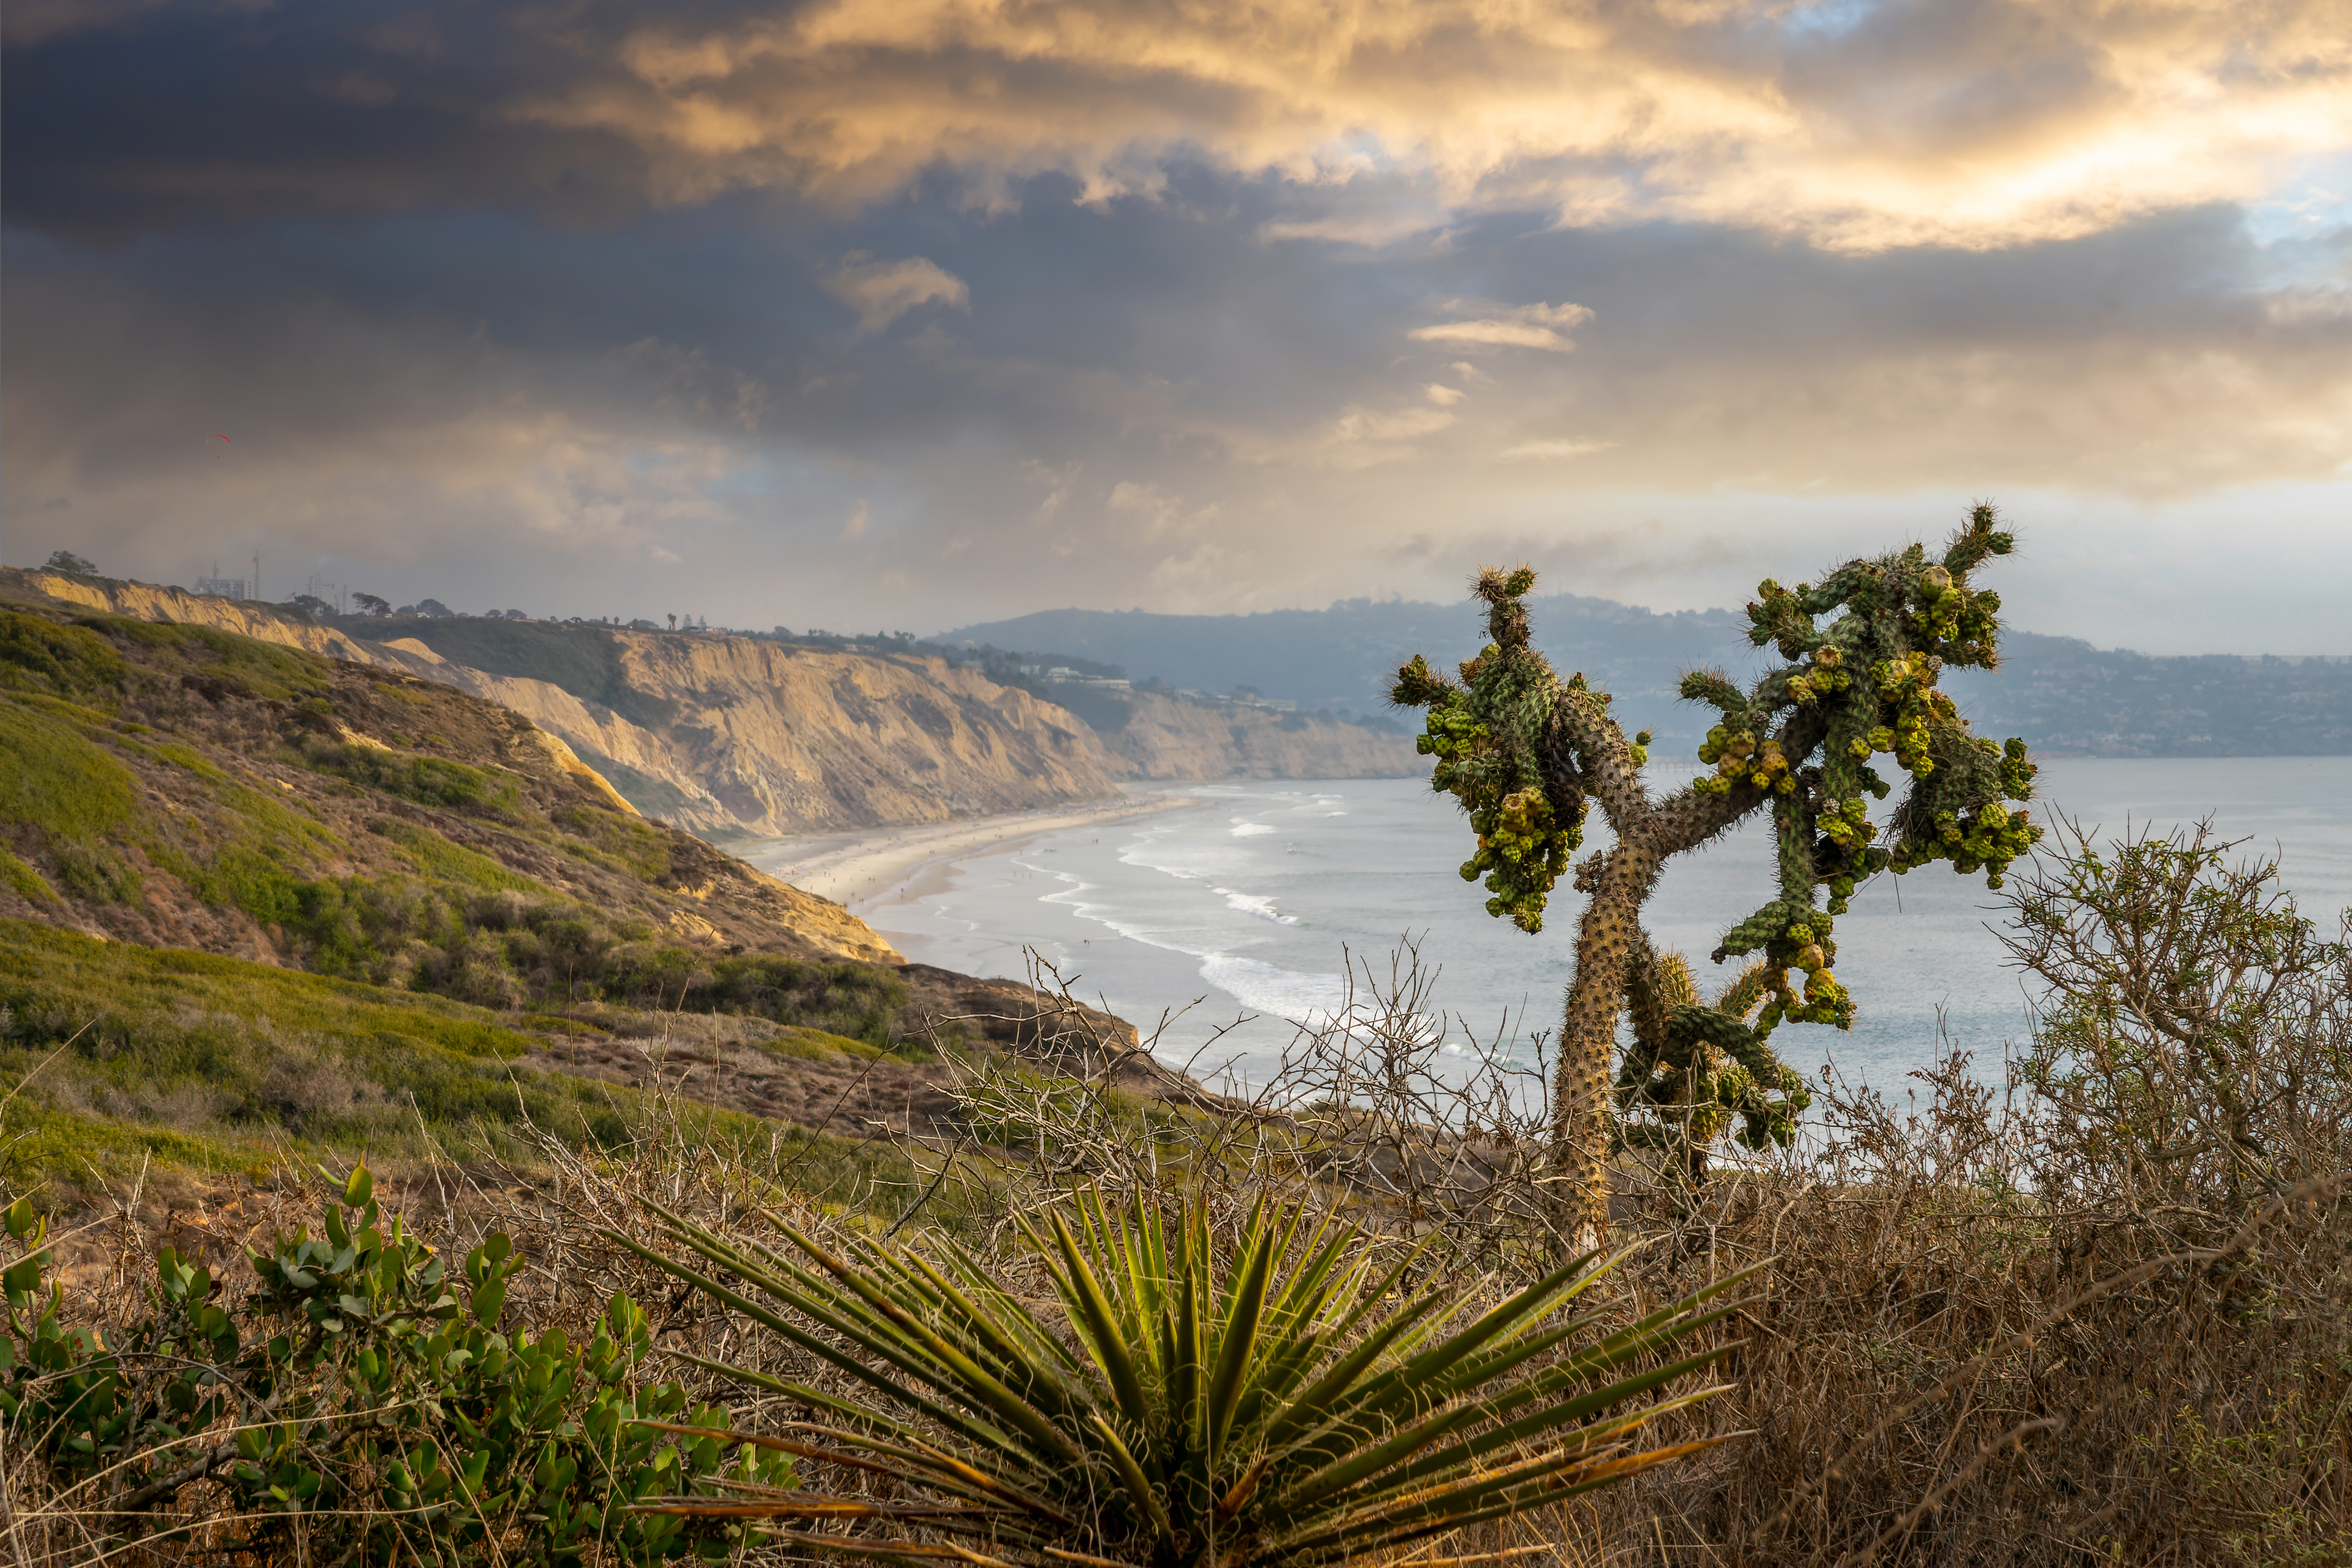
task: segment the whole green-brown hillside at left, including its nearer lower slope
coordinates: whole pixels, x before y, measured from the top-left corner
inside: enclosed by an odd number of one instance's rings
[[[870,1187],[950,1112],[943,1048],[1025,1051],[1051,1009],[903,964],[449,684],[0,583],[19,1185],[200,1199],[327,1150],[529,1166],[550,1133],[626,1143],[666,1095]],[[1131,1027],[1063,1011],[1129,1056]],[[1117,1081],[1197,1095],[1148,1060]]]

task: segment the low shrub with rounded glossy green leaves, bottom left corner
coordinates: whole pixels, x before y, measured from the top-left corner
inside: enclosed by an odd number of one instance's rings
[[[24,1255],[0,1276],[0,1429],[68,1497],[129,1533],[169,1533],[198,1481],[228,1490],[228,1549],[313,1561],[626,1563],[720,1554],[739,1528],[635,1514],[715,1481],[793,1483],[790,1455],[663,1427],[724,1427],[675,1382],[642,1380],[647,1316],[614,1295],[586,1345],[499,1328],[522,1253],[503,1234],[459,1276],[383,1222],[365,1166],[336,1182],[322,1237],[249,1251],[230,1300],[209,1267],[155,1255],[148,1312],[66,1321],[45,1220],[7,1208]]]

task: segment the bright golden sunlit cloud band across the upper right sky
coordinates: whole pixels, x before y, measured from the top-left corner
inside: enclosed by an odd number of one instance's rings
[[[1190,155],[1312,183],[1404,174],[1451,209],[1985,247],[2249,200],[2352,146],[2352,7],[830,0],[647,26],[508,113],[626,136],[668,200],[863,200],[941,165],[981,200],[1047,169],[1105,197]]]

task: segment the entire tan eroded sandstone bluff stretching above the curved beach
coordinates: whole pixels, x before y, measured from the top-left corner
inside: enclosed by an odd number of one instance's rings
[[[1110,799],[1117,783],[1406,776],[1357,724],[1134,693],[1122,724],[978,670],[753,637],[550,621],[381,621],[381,637],[179,588],[16,574],[89,609],[214,625],[435,679],[560,736],[637,811],[701,835],[807,835]],[[343,623],[353,625],[350,621]]]

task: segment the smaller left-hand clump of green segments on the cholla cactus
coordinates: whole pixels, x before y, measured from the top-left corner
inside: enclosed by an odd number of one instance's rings
[[[1583,790],[1543,764],[1555,705],[1569,686],[1526,642],[1519,597],[1534,585],[1536,574],[1526,567],[1479,581],[1494,642],[1461,665],[1463,684],[1416,654],[1390,689],[1390,701],[1428,708],[1416,750],[1437,757],[1430,788],[1454,795],[1470,813],[1477,853],[1463,863],[1463,882],[1484,879],[1486,912],[1508,914],[1531,933],[1543,931],[1552,884],[1585,839]],[[1571,686],[1581,691],[1583,677]]]

